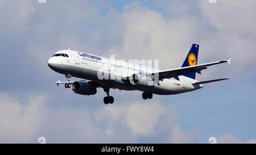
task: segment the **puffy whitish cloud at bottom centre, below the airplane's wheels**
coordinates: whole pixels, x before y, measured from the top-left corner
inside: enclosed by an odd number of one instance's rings
[[[118,134],[118,128],[127,128],[123,134],[128,134],[131,141],[137,141],[138,137],[158,137],[161,134],[166,136],[162,143],[196,143],[197,135],[184,133],[177,125],[177,116],[170,107],[164,107],[158,102],[134,102],[103,107],[98,112],[99,123],[110,120],[106,123],[106,132],[113,136]],[[117,125],[118,124],[118,125]],[[122,124],[122,126],[120,125]],[[116,137],[115,137],[116,138]],[[127,139],[127,137],[125,137]]]

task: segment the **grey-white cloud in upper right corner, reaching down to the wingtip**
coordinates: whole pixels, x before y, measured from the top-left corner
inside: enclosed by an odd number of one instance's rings
[[[232,58],[232,66],[219,74],[246,77],[255,72],[255,5],[253,0],[220,1],[214,5],[200,2],[203,21],[209,23],[213,31],[201,42],[201,50],[208,51],[203,53],[203,58],[207,59],[209,53],[215,59]]]

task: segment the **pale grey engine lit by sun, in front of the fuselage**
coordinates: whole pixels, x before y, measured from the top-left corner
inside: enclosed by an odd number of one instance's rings
[[[135,73],[130,76],[130,83],[136,87],[152,87],[155,86],[155,82],[151,77],[146,74]]]

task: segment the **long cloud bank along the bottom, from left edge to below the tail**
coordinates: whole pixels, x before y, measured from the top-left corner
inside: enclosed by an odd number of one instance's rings
[[[85,107],[49,107],[47,95],[34,95],[27,102],[0,94],[0,142],[37,143],[141,143],[140,137],[166,135],[162,143],[192,143],[180,130],[170,107],[158,102]],[[170,137],[171,136],[171,137]],[[154,141],[153,141],[154,142]]]

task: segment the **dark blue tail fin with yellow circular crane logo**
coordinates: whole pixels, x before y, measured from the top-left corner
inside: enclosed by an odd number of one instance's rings
[[[182,65],[182,67],[196,65],[197,64],[198,51],[199,51],[199,45],[193,44],[189,53],[188,53],[188,56],[185,58],[185,61]],[[196,72],[184,74],[184,76],[196,79]]]

